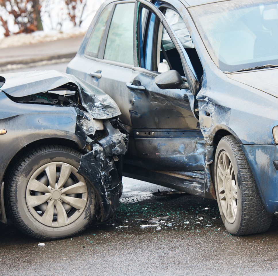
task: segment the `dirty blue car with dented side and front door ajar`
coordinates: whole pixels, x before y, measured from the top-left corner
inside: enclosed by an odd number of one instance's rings
[[[119,106],[124,175],[217,198],[237,235],[278,212],[277,23],[277,1],[109,0],[67,67]]]

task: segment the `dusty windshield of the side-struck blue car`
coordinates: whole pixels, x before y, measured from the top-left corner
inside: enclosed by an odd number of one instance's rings
[[[196,27],[222,71],[278,64],[276,1],[225,1],[190,8]]]

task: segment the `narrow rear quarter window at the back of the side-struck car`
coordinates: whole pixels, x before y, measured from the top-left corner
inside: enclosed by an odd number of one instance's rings
[[[109,14],[113,4],[108,5],[102,11],[98,21],[95,24],[94,30],[89,38],[88,44],[86,46],[85,55],[97,57],[99,54],[99,47],[104,35],[105,27],[107,24],[107,20],[109,18]]]

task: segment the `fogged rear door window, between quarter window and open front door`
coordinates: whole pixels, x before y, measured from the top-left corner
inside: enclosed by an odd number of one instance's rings
[[[133,62],[134,3],[118,4],[109,27],[104,58],[127,64]]]

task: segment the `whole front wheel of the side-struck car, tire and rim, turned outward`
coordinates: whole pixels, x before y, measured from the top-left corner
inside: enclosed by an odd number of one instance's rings
[[[272,214],[265,209],[248,161],[232,135],[223,137],[217,145],[215,190],[228,232],[241,236],[269,229]]]

